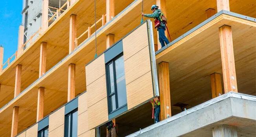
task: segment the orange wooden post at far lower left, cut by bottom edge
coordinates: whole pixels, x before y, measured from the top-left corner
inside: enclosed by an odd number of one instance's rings
[[[13,107],[13,119],[11,123],[11,137],[15,137],[18,134],[18,106]]]

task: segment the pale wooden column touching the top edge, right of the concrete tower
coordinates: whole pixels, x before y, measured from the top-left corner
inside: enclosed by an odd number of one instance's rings
[[[49,0],[42,0],[42,31],[41,34],[48,28],[48,6]]]

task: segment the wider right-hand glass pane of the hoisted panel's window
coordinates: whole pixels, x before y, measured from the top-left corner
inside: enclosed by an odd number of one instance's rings
[[[127,104],[123,56],[115,60],[118,107]]]

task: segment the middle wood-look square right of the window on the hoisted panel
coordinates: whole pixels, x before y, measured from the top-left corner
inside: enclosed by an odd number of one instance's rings
[[[131,58],[124,61],[126,85],[151,70],[149,47],[140,50]]]

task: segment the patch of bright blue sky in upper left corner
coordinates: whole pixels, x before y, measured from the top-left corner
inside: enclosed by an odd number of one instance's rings
[[[22,20],[22,0],[2,0],[0,4],[0,44],[4,62],[17,50],[18,27]]]

